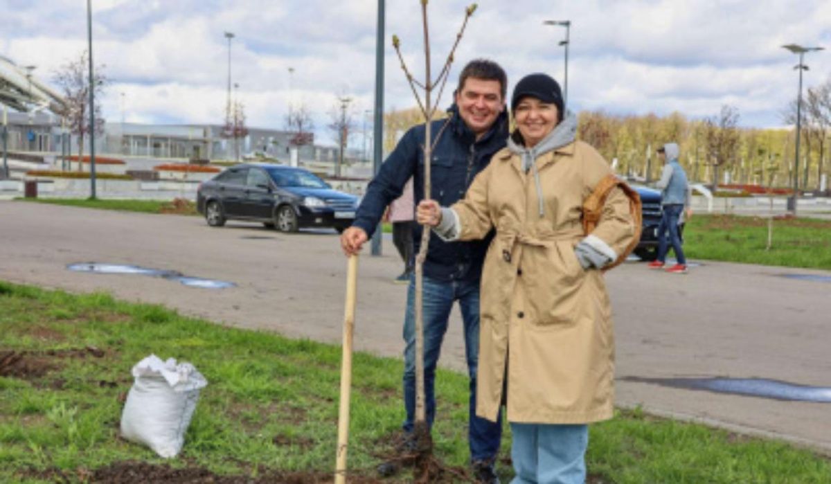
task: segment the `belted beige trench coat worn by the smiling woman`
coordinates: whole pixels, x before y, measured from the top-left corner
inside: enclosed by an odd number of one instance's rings
[[[536,160],[533,170],[507,148],[451,208],[460,240],[491,228],[482,273],[476,413],[495,421],[507,375],[509,422],[588,423],[612,417],[614,331],[602,272],[574,254],[583,239],[583,199],[612,173],[582,141]],[[636,230],[619,187],[609,193],[593,235],[622,253]],[[506,368],[507,365],[507,368]]]

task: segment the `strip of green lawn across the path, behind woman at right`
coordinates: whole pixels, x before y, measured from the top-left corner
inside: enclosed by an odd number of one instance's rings
[[[689,259],[723,260],[831,270],[831,220],[768,220],[739,215],[694,215],[684,229]]]

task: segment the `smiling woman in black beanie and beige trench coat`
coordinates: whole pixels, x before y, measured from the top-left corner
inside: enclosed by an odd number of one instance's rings
[[[421,224],[445,240],[496,230],[484,262],[476,412],[506,403],[514,483],[584,482],[588,423],[612,417],[614,333],[602,270],[637,235],[627,194],[608,191],[583,232],[583,202],[612,170],[575,141],[557,81],[531,74],[514,88],[508,146],[450,208],[424,200]]]

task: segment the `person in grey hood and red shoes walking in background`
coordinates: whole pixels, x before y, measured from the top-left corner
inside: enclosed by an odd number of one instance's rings
[[[666,252],[669,245],[675,250],[676,264],[666,269],[673,274],[686,273],[686,257],[681,247],[681,235],[678,224],[686,207],[686,218],[692,216],[690,209],[691,190],[686,179],[686,172],[678,163],[678,145],[666,143],[658,148],[658,157],[664,162],[661,180],[656,187],[661,190],[661,224],[658,225],[658,257],[648,264],[650,269],[663,269],[666,264]]]

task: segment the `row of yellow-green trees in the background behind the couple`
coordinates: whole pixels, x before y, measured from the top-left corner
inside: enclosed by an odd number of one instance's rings
[[[819,190],[822,175],[829,175],[831,137],[831,78],[810,87],[803,96],[799,189]],[[443,114],[443,113],[442,113]],[[796,100],[781,113],[784,124],[795,124]],[[680,112],[668,116],[612,115],[582,111],[578,136],[600,151],[622,175],[656,180],[661,174],[656,149],[668,142],[681,147],[681,165],[692,180],[707,185],[794,185],[795,130],[755,129],[738,126],[735,106],[691,119]],[[389,152],[409,129],[423,122],[417,108],[391,110],[384,115],[384,151]],[[616,161],[617,160],[617,161]]]

